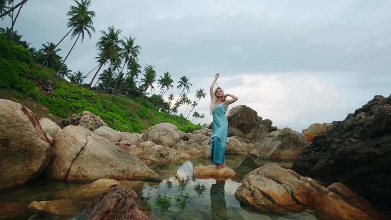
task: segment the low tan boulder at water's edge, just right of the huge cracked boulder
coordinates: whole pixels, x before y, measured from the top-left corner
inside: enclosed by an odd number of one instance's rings
[[[157,145],[139,153],[137,157],[147,165],[164,164],[166,162],[178,162],[181,159],[181,153],[178,150]]]

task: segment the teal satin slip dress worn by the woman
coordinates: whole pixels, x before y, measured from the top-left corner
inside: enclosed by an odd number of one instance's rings
[[[212,115],[213,127],[210,137],[210,161],[212,161],[213,165],[216,163],[224,164],[224,151],[228,134],[228,121],[225,115],[224,102],[219,105],[215,104],[215,110]]]

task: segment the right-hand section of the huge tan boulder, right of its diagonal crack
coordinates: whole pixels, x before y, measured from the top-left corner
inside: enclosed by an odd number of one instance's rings
[[[92,133],[91,136],[87,137],[85,147],[72,163],[66,179],[126,179],[156,175],[154,171],[150,170],[135,155],[122,150],[107,139]]]

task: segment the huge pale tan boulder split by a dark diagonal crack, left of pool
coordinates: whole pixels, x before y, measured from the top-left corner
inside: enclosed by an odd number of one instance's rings
[[[82,126],[66,126],[57,133],[53,144],[55,156],[45,170],[48,179],[120,179],[156,175],[136,156]]]

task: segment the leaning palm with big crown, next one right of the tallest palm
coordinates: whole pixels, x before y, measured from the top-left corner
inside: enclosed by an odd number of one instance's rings
[[[111,25],[108,27],[107,33],[106,33],[106,31],[103,31],[103,30],[101,30],[100,33],[102,34],[102,36],[99,38],[99,41],[95,45],[96,45],[97,49],[100,50],[101,54],[103,55],[102,57],[104,57],[104,59],[101,60],[100,66],[99,66],[97,72],[95,72],[95,75],[93,76],[93,78],[91,79],[91,83],[88,86],[88,88],[91,88],[91,85],[92,85],[95,77],[97,76],[100,68],[102,68],[102,66],[106,62],[106,60],[112,59],[115,56],[115,54],[117,53],[117,51],[120,50],[120,47],[118,46],[118,44],[121,43],[121,40],[119,40],[119,38],[118,38],[118,36],[122,33],[122,31],[120,29],[115,30],[115,27],[113,25]]]

